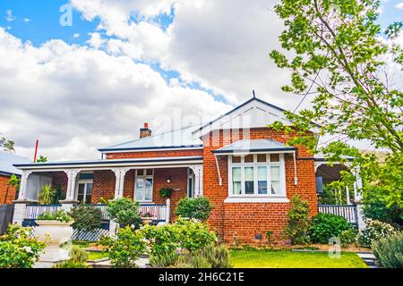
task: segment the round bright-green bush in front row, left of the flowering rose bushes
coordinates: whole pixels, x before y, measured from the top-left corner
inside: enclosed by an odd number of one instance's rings
[[[104,242],[107,242],[111,264],[116,268],[136,268],[135,262],[146,251],[141,231],[133,231],[129,226],[119,229],[116,238],[111,237]]]

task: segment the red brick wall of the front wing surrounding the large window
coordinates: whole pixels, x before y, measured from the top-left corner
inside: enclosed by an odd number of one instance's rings
[[[239,139],[274,139],[286,143],[296,134],[284,134],[270,129],[253,129],[243,135],[241,131],[231,139],[230,133],[225,142],[223,131],[214,132],[205,136],[203,152],[203,194],[210,198],[215,206],[209,219],[209,223],[219,236],[227,243],[232,243],[234,236],[240,243],[256,243],[255,234],[263,235],[265,241],[266,231],[273,231],[275,239],[280,240],[280,233],[287,223],[287,210],[289,203],[224,203],[228,194],[227,182],[227,156],[219,160],[219,168],[223,180],[219,186],[219,176],[212,150],[223,147]],[[311,158],[312,155],[304,147],[298,147],[299,158]],[[292,198],[298,193],[310,205],[310,215],[317,212],[317,198],[315,188],[315,172],[313,159],[297,160],[298,185],[294,185],[294,162],[292,156],[286,156],[286,188],[287,198]]]

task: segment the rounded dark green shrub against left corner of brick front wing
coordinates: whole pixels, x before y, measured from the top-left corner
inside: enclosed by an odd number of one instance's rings
[[[208,198],[182,198],[176,206],[176,215],[197,220],[207,220],[210,217],[211,205]]]

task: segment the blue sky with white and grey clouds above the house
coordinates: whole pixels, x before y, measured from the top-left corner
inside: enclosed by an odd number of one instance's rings
[[[224,114],[252,96],[294,109],[271,63],[269,0],[2,0],[0,134],[31,157],[98,158],[98,147]],[[380,21],[402,21],[383,1]],[[71,12],[71,16],[70,16]],[[304,107],[304,105],[302,106]]]

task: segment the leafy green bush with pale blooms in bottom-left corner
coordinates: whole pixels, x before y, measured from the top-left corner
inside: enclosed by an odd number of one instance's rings
[[[31,268],[44,248],[32,228],[9,224],[7,233],[0,237],[0,268]]]

